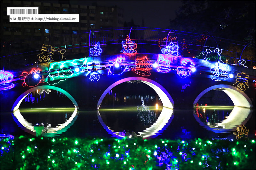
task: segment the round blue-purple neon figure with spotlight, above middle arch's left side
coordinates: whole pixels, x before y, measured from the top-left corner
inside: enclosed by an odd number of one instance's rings
[[[124,71],[129,71],[130,69],[126,68],[124,63],[124,58],[117,58],[116,61],[113,62],[108,62],[108,65],[106,66],[108,70],[108,75],[120,75],[122,74]]]

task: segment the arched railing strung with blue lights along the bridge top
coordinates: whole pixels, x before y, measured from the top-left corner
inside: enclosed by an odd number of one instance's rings
[[[50,41],[48,45],[55,49],[65,49],[66,52],[63,55],[65,55],[66,60],[88,57],[90,48],[93,48],[98,42],[103,51],[101,55],[114,55],[122,50],[122,42],[126,40],[126,35],[134,43],[137,43],[136,50],[138,53],[161,54],[161,50],[172,42],[174,45],[179,46],[179,56],[203,59],[205,56],[202,51],[219,48],[222,49],[220,55],[224,63],[237,64],[240,60],[244,60],[246,62],[244,66],[250,68],[255,66],[255,45],[213,37],[207,34],[168,29],[124,27],[90,30],[77,34],[52,34],[52,38],[63,36],[69,37],[70,40],[76,40],[76,42],[63,42],[62,46],[55,46],[54,41]],[[40,53],[41,49],[21,54],[5,55],[1,57],[1,69],[12,70],[25,65],[39,64],[40,61],[37,55]],[[54,58],[54,61],[59,61],[60,59],[59,55]],[[210,60],[216,61],[217,58],[211,57]],[[238,64],[241,65],[241,61]]]

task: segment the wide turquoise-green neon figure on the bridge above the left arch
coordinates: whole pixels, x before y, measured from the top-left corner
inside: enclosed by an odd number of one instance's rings
[[[86,61],[86,58],[83,58],[73,61],[51,63],[49,75],[46,77],[47,83],[54,85],[84,71]],[[74,68],[74,66],[76,66],[76,68]],[[77,69],[81,69],[81,71],[76,71]]]

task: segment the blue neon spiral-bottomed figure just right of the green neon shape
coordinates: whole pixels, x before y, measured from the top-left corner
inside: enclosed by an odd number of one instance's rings
[[[90,64],[90,65],[89,65]],[[95,68],[93,68],[93,66],[95,66]],[[100,76],[102,76],[101,72],[100,72],[100,63],[92,63],[92,62],[89,62],[87,64],[88,66],[88,73],[86,74],[86,77],[89,77],[89,79],[91,81],[98,81],[100,79]]]

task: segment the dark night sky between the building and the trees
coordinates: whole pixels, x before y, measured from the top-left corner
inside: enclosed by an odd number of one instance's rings
[[[95,1],[72,1],[72,4],[92,5]],[[99,6],[118,6],[123,8],[124,21],[133,19],[135,25],[142,23],[152,28],[166,28],[170,25],[170,19],[176,17],[175,11],[181,5],[181,1],[97,1]]]

